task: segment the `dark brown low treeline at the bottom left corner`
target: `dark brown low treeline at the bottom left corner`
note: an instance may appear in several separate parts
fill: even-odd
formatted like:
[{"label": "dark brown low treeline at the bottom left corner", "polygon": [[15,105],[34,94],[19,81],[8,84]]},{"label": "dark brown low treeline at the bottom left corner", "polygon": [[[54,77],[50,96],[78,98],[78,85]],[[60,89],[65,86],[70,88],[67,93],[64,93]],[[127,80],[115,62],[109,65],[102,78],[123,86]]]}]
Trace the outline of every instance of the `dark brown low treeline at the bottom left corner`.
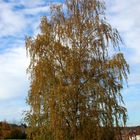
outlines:
[{"label": "dark brown low treeline at the bottom left corner", "polygon": [[0,139],[26,139],[26,125],[0,122]]}]

